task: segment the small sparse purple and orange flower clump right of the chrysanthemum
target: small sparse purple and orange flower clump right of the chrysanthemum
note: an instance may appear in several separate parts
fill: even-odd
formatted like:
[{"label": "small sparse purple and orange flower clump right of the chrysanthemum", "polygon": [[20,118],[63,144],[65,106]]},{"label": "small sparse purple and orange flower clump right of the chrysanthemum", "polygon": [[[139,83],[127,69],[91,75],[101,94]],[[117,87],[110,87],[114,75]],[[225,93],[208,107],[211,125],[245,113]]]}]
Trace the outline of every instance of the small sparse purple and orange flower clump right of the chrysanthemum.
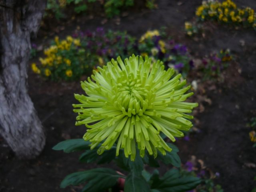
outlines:
[{"label": "small sparse purple and orange flower clump right of the chrysanthemum", "polygon": [[213,53],[209,57],[204,58],[201,66],[204,78],[218,77],[228,67],[232,59],[233,57],[229,49],[220,50],[220,52]]}]

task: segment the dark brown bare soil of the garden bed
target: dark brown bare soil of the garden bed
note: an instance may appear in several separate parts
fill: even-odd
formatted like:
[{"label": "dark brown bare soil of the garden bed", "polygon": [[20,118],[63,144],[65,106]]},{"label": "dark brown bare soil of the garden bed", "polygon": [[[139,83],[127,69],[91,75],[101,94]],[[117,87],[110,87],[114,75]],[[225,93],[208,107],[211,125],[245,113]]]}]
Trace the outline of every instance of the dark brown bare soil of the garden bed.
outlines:
[{"label": "dark brown bare soil of the garden bed", "polygon": [[[180,4],[181,2],[181,4]],[[251,6],[256,9],[255,0],[234,0],[238,5]],[[198,113],[197,128],[201,131],[192,134],[190,141],[178,141],[182,162],[195,155],[202,159],[213,172],[219,172],[216,180],[225,192],[250,192],[254,187],[256,176],[255,148],[252,148],[246,127],[249,118],[256,116],[256,32],[252,29],[234,29],[207,23],[204,37],[184,36],[184,22],[191,20],[201,0],[177,1],[159,0],[158,9],[129,12],[121,17],[120,24],[116,18],[108,20],[103,27],[112,30],[127,30],[140,36],[148,29],[166,26],[168,32],[180,43],[190,49],[193,56],[202,57],[214,50],[230,48],[236,56],[238,65],[230,66],[224,75],[224,82],[216,83],[211,89],[205,87],[204,93],[212,104],[204,104],[204,112]],[[65,30],[59,36],[71,34],[77,26],[81,30],[95,30],[102,26],[104,18],[80,16],[67,22]],[[54,23],[52,24],[54,25]],[[64,24],[59,28],[63,29]],[[44,35],[55,33],[40,30],[38,44]],[[57,30],[58,32],[58,30]],[[50,37],[51,38],[51,37]],[[244,46],[241,45],[244,42]],[[238,69],[241,69],[241,71]],[[75,116],[72,104],[73,93],[81,93],[79,82],[53,83],[45,82],[29,71],[29,94],[38,111],[47,134],[46,146],[42,154],[34,160],[18,160],[4,140],[0,138],[0,191],[2,192],[58,192],[75,191],[76,188],[60,189],[61,180],[69,173],[96,167],[95,164],[80,164],[79,153],[64,154],[52,150],[58,142],[68,138],[81,138],[84,127],[74,126]],[[195,98],[196,98],[195,93]],[[199,93],[198,93],[199,94]],[[21,141],[22,142],[22,141]],[[114,165],[103,165],[105,167]],[[167,168],[161,167],[161,172]]]}]

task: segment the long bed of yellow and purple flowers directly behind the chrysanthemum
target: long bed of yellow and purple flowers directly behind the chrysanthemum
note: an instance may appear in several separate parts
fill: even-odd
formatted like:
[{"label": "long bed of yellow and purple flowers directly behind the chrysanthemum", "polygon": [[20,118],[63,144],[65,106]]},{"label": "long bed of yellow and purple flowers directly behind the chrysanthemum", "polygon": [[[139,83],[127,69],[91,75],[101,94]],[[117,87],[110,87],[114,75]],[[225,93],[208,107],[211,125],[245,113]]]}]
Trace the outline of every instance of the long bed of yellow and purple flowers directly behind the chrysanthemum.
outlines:
[{"label": "long bed of yellow and purple flowers directly behind the chrysanthemum", "polygon": [[158,30],[148,31],[136,39],[126,32],[106,32],[97,28],[95,32],[76,32],[65,40],[56,37],[52,46],[44,50],[46,57],[39,59],[41,65],[34,64],[32,70],[52,80],[75,80],[111,58],[118,55],[125,58],[136,53],[154,61],[161,59],[166,68],[173,67],[186,75],[193,65],[186,46],[163,40],[162,34]]}]

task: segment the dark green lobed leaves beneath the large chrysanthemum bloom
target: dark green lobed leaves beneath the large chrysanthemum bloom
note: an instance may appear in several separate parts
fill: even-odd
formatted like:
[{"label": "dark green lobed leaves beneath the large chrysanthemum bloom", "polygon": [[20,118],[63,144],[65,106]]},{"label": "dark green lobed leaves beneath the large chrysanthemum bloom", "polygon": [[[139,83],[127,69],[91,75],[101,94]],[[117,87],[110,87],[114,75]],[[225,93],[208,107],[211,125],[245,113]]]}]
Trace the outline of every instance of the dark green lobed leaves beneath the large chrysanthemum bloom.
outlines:
[{"label": "dark green lobed leaves beneath the large chrysanthemum bloom", "polygon": [[[169,145],[173,148],[173,154],[168,154],[161,157],[164,162],[172,163],[173,156],[176,156],[178,148],[172,144]],[[80,185],[86,183],[82,192],[101,192],[116,185],[118,178],[125,178],[124,191],[125,192],[183,192],[195,188],[200,179],[193,176],[181,176],[178,170],[172,169],[166,172],[160,178],[158,171],[154,170],[150,174],[144,169],[144,159],[139,156],[137,152],[135,161],[130,161],[129,158],[124,156],[123,150],[120,151],[118,157],[115,157],[116,145],[113,146],[108,152],[98,155],[97,148],[90,150],[88,142],[83,139],[65,140],[53,147],[54,150],[63,150],[66,153],[85,150],[80,156],[81,162],[95,162],[108,163],[116,158],[116,162],[120,168],[128,171],[127,176],[118,174],[116,171],[108,168],[96,168],[87,171],[72,173],[61,182],[60,187],[65,188],[68,185]],[[146,154],[145,154],[146,156]],[[148,156],[152,157],[152,156]],[[99,160],[100,159],[100,160]]]}]

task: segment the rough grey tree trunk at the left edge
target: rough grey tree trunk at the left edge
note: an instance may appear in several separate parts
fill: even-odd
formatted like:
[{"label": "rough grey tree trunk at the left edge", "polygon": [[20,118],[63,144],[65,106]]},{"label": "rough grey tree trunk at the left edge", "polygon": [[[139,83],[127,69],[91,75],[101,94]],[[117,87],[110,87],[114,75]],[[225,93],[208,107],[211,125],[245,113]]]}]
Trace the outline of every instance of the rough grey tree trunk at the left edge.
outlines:
[{"label": "rough grey tree trunk at the left edge", "polygon": [[46,0],[0,0],[0,134],[18,158],[34,158],[45,145],[27,90],[30,35],[45,6]]}]

